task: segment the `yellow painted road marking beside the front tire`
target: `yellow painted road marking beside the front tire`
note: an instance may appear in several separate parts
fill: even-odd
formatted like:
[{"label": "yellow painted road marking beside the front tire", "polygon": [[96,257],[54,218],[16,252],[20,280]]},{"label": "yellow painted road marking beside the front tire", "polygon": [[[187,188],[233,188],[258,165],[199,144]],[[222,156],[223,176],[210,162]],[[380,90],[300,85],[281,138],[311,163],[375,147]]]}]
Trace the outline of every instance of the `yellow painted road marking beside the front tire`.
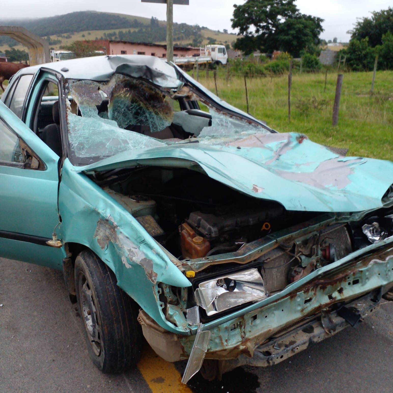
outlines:
[{"label": "yellow painted road marking beside the front tire", "polygon": [[152,393],[192,393],[192,390],[182,384],[182,376],[173,363],[160,358],[146,344],[138,369],[149,385]]}]

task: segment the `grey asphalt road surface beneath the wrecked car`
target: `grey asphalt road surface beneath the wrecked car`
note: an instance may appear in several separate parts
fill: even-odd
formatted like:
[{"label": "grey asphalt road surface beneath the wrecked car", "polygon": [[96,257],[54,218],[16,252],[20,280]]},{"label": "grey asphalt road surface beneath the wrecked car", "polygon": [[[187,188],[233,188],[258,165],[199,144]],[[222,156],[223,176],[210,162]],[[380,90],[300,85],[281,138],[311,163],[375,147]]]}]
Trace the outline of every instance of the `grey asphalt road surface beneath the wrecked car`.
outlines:
[{"label": "grey asphalt road surface beneath the wrecked car", "polygon": [[146,346],[138,368],[104,375],[90,362],[80,316],[62,273],[0,259],[0,392],[393,392],[393,302],[357,329],[270,368],[238,368],[223,380],[196,375],[180,384],[185,362],[169,364]]}]

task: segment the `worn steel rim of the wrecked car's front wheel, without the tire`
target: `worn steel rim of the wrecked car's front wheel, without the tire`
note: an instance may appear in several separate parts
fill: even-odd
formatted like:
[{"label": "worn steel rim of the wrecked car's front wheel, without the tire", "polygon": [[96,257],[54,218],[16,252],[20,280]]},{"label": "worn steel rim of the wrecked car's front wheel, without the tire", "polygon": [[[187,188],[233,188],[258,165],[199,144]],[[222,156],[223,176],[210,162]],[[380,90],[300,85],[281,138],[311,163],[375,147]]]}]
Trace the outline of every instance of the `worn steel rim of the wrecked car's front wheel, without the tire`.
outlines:
[{"label": "worn steel rim of the wrecked car's front wheel, without the tire", "polygon": [[101,354],[101,330],[97,315],[97,299],[90,288],[83,272],[78,275],[79,305],[81,307],[83,325],[86,329],[90,345],[96,356]]}]

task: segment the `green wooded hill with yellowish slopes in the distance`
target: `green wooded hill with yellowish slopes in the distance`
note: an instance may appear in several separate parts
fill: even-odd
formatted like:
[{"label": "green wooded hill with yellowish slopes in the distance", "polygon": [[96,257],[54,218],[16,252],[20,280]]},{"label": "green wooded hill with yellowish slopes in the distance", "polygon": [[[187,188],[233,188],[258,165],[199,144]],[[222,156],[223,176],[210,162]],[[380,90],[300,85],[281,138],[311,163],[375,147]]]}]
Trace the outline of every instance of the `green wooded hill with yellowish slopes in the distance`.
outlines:
[{"label": "green wooded hill with yellowish slopes in the distance", "polygon": [[[59,49],[75,40],[112,39],[141,42],[165,42],[165,21],[133,15],[79,11],[54,17],[37,19],[2,20],[0,25],[22,26],[48,40],[51,48]],[[175,44],[198,46],[208,43],[231,44],[235,34],[213,31],[198,25],[174,23]],[[0,36],[0,50],[11,47],[24,49],[23,46],[6,36]]]}]

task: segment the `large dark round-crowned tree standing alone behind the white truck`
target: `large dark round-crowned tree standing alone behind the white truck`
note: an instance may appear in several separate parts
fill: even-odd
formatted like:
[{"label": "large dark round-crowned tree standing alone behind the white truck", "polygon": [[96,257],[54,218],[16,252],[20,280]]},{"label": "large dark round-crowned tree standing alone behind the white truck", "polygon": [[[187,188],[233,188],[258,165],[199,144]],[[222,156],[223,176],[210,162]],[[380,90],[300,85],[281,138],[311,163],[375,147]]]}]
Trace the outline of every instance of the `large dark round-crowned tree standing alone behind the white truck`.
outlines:
[{"label": "large dark round-crowned tree standing alone behind the white truck", "polygon": [[319,44],[323,19],[304,15],[295,0],[247,0],[234,5],[232,28],[239,29],[236,48],[250,54],[255,50],[288,51],[298,55],[308,46]]}]

